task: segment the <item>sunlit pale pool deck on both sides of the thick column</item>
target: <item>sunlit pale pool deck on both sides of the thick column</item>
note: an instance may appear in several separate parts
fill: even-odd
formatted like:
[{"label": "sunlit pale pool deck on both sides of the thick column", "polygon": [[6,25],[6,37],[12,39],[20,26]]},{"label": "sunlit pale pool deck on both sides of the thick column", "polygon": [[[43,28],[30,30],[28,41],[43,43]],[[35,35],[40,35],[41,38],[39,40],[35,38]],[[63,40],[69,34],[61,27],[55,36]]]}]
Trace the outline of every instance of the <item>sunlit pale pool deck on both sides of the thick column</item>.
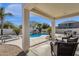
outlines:
[{"label": "sunlit pale pool deck on both sides of the thick column", "polygon": [[[35,46],[43,42],[46,42],[48,40],[47,36],[48,35],[42,35],[40,37],[30,38],[30,46]],[[19,37],[19,39],[17,40],[6,42],[5,44],[13,44],[22,48],[22,37]]]}]

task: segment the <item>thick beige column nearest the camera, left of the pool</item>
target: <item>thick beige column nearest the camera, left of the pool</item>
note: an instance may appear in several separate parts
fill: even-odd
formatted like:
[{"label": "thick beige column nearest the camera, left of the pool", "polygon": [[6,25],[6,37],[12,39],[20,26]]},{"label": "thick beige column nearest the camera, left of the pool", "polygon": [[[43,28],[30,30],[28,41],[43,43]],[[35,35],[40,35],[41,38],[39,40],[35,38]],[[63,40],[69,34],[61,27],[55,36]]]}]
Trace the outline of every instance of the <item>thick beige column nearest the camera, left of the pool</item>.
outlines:
[{"label": "thick beige column nearest the camera, left of the pool", "polygon": [[23,19],[23,40],[22,40],[22,47],[25,52],[28,51],[30,48],[30,38],[29,38],[29,10],[24,9],[23,13],[24,19]]}]

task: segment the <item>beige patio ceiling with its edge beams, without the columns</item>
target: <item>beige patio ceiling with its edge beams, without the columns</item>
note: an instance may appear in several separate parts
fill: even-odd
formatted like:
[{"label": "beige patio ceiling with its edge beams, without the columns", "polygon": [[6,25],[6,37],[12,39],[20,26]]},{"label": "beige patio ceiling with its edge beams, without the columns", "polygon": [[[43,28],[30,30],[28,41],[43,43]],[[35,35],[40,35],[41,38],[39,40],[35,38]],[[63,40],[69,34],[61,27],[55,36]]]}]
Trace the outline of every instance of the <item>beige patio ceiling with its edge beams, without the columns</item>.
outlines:
[{"label": "beige patio ceiling with its edge beams, without the columns", "polygon": [[24,7],[50,19],[79,16],[78,3],[28,3]]}]

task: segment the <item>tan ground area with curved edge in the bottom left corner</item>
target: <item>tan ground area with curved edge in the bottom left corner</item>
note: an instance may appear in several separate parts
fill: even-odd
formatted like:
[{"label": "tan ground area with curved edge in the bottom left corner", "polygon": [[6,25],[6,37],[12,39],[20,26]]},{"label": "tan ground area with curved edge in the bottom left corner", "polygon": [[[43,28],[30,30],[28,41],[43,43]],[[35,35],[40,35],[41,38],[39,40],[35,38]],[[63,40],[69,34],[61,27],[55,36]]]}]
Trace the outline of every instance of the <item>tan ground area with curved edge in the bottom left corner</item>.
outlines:
[{"label": "tan ground area with curved edge in the bottom left corner", "polygon": [[0,45],[0,56],[24,56],[24,51],[16,45],[2,44]]}]

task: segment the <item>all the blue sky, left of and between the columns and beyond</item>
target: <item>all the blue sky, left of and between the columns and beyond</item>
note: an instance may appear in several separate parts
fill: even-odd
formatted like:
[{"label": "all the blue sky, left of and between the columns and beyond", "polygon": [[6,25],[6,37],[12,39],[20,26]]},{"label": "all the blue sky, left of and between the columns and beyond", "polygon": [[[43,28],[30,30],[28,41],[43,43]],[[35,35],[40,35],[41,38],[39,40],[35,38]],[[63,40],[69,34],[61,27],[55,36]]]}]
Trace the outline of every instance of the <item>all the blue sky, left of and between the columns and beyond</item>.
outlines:
[{"label": "all the blue sky, left of and between the columns and beyond", "polygon": [[[4,3],[4,4],[0,4],[0,7],[5,7],[5,13],[12,13],[14,15],[14,16],[5,17],[5,21],[10,21],[10,22],[14,23],[15,25],[22,24],[22,19],[23,19],[22,4]],[[62,22],[68,21],[68,20],[69,21],[79,21],[79,16],[56,20],[56,26],[59,23],[62,23]],[[32,13],[30,13],[30,21],[35,21],[35,22],[39,22],[39,23],[46,23],[48,25],[51,25],[50,20],[48,20],[44,17],[41,17],[41,16],[34,15]]]}]

